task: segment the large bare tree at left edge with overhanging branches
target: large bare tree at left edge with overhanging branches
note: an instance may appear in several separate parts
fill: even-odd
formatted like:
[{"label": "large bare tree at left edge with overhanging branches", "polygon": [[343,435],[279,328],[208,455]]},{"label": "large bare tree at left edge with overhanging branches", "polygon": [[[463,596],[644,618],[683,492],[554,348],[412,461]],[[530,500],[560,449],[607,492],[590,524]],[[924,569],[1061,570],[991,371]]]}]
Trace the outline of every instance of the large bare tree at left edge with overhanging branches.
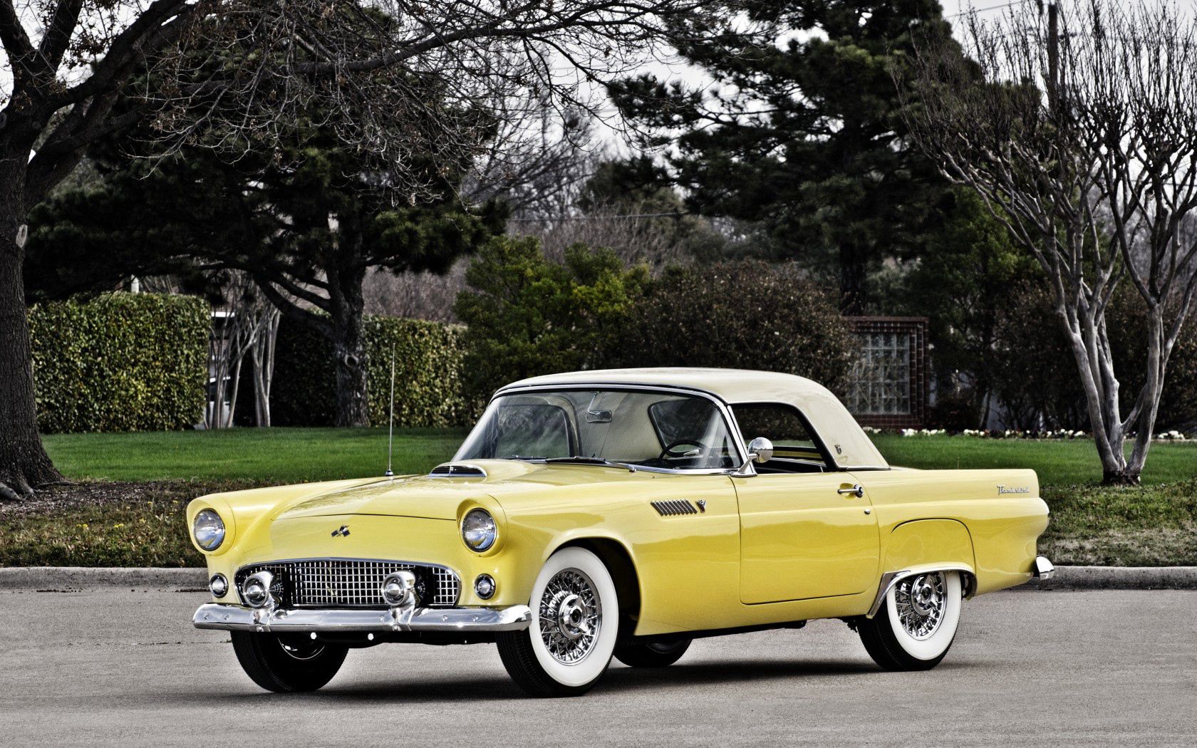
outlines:
[{"label": "large bare tree at left edge with overhanging branches", "polygon": [[[429,182],[413,165],[474,153],[505,116],[488,103],[528,89],[585,107],[589,87],[681,28],[673,23],[679,13],[717,6],[0,0],[0,498],[30,495],[60,478],[36,427],[25,220],[98,138],[152,116],[168,152],[182,142],[269,152],[311,124],[306,112],[316,102],[345,144],[387,166],[397,197],[418,202]],[[117,107],[130,89],[133,104]],[[420,121],[427,126],[412,126]]]}]

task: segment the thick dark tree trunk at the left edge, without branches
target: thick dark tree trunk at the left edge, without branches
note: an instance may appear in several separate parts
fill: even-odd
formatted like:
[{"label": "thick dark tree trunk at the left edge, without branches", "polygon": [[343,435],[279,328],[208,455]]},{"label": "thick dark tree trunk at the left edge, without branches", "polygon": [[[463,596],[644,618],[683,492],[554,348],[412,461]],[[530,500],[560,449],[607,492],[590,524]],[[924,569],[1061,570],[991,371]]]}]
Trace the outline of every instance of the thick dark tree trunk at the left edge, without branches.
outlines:
[{"label": "thick dark tree trunk at the left edge, without branches", "polygon": [[[19,184],[20,181],[17,181]],[[17,232],[24,223],[20,188],[0,189],[0,499],[31,497],[62,480],[37,434],[34,366]]]}]

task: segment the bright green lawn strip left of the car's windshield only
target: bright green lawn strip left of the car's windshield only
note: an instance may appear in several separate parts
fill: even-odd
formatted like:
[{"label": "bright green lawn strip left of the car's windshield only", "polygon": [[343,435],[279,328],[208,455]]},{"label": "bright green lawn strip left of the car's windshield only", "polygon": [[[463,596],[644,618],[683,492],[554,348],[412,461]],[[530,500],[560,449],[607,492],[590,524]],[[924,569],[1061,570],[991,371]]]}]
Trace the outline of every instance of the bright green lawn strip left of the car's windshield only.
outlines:
[{"label": "bright green lawn strip left of the car's windshield only", "polygon": [[[458,428],[395,431],[395,474],[452,457]],[[382,475],[385,428],[223,428],[153,433],[60,433],[43,438],[72,480],[249,480],[298,484]]]}]

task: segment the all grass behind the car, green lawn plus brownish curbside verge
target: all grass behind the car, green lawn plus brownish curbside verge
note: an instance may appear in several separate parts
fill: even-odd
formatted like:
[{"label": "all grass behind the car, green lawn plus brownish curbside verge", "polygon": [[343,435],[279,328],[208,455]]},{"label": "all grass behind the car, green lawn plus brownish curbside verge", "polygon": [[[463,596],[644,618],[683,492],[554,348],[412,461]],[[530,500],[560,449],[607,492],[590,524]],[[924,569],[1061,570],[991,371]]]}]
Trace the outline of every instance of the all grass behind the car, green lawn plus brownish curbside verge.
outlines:
[{"label": "all grass behind the car, green lawn plus brownish curbside verge", "polygon": [[[461,430],[400,430],[395,473],[450,458]],[[1197,443],[1155,444],[1138,487],[1098,485],[1086,440],[874,437],[892,464],[1032,468],[1052,522],[1040,551],[1057,564],[1197,565]],[[74,487],[0,504],[0,565],[202,565],[187,540],[187,501],[213,491],[381,475],[378,428],[235,428],[54,434],[45,445]],[[129,481],[113,484],[108,481]]]}]

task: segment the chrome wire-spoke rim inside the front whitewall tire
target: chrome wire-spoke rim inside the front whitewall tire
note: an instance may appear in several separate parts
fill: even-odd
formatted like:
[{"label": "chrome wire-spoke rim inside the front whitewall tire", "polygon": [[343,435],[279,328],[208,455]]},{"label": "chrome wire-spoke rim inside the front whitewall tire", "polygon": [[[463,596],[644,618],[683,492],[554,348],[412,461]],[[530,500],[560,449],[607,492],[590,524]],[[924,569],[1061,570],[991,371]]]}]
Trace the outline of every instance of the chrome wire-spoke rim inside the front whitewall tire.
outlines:
[{"label": "chrome wire-spoke rim inside the front whitewall tire", "polygon": [[595,584],[578,568],[559,571],[540,597],[540,637],[553,659],[572,665],[595,649],[602,603]]}]

